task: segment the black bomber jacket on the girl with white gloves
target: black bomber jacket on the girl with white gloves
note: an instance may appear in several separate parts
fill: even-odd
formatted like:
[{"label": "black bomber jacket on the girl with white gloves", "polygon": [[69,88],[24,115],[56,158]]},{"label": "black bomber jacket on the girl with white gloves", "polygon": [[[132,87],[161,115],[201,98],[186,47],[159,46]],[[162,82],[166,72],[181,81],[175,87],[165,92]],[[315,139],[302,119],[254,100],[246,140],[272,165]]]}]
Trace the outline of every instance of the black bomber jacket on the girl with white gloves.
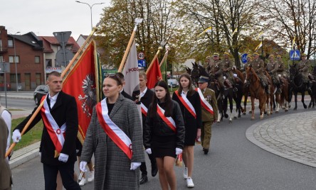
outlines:
[{"label": "black bomber jacket on the girl with white gloves", "polygon": [[[146,125],[145,125],[145,133],[144,133],[144,147],[147,149],[151,147],[151,141],[153,136],[172,136],[175,135],[177,145],[176,147],[179,147],[183,150],[184,147],[184,134],[185,134],[185,129],[184,129],[184,121],[182,117],[182,113],[179,107],[179,104],[176,101],[172,100],[172,118],[174,119],[174,122],[176,123],[177,131],[174,133],[174,130],[172,130],[160,116],[158,113],[155,114],[155,116],[149,116],[147,114],[146,118]],[[165,109],[164,104],[159,104],[163,109]],[[150,108],[152,107],[152,104],[150,104],[148,112]]]}]

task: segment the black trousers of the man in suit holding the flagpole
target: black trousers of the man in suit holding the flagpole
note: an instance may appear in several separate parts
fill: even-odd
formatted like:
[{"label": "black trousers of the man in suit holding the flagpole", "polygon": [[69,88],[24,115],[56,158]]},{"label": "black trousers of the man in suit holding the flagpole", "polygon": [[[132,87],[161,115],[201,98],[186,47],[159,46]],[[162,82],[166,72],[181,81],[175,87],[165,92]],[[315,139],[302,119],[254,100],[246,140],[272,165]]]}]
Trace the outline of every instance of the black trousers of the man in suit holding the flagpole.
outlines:
[{"label": "black trousers of the man in suit holding the flagpole", "polygon": [[43,164],[44,179],[45,179],[45,189],[46,190],[56,190],[56,178],[58,171],[60,172],[61,180],[63,181],[63,186],[65,189],[76,190],[81,189],[77,181],[73,179],[75,162],[69,162],[65,164],[60,164],[58,166],[52,166],[49,164]]}]

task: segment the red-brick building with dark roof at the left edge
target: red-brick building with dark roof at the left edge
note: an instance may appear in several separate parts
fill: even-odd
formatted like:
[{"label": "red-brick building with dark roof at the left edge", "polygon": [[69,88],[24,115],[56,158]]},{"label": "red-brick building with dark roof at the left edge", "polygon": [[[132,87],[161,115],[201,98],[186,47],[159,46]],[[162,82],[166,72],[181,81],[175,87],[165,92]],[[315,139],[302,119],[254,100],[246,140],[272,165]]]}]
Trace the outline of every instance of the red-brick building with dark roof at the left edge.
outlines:
[{"label": "red-brick building with dark roof at the left edge", "polygon": [[10,63],[10,72],[0,77],[0,86],[6,78],[8,90],[29,91],[44,84],[43,43],[33,32],[11,35],[0,26],[0,62]]}]

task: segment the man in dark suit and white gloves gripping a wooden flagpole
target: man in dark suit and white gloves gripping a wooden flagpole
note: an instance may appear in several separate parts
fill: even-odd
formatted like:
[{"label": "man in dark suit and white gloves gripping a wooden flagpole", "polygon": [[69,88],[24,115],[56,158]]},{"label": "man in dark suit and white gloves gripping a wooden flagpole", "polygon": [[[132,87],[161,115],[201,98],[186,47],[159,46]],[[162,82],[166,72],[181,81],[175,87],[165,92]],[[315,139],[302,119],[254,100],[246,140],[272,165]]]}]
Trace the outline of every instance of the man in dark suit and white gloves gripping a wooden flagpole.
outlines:
[{"label": "man in dark suit and white gloves gripping a wooden flagpole", "polygon": [[[65,189],[80,189],[79,184],[73,179],[73,168],[76,161],[75,139],[78,133],[77,104],[73,96],[61,91],[63,78],[60,73],[48,74],[46,84],[49,93],[47,96],[43,96],[43,107],[28,128],[31,130],[38,121],[43,120],[40,155],[43,163],[45,189],[56,189],[58,171]],[[24,125],[35,112],[36,108],[31,115],[16,126],[12,135],[14,143],[19,143]]]}]

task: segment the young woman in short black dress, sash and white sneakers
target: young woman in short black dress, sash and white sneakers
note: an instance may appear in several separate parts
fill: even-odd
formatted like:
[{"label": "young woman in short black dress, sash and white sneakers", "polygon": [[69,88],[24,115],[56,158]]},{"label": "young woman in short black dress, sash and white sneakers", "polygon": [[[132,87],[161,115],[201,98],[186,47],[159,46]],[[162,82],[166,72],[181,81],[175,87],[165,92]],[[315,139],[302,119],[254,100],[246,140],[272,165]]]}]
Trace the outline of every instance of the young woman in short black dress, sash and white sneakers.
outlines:
[{"label": "young woman in short black dress, sash and white sneakers", "polygon": [[192,87],[191,77],[184,73],[179,77],[179,89],[174,91],[172,99],[177,101],[184,118],[184,150],[182,158],[184,161],[184,179],[186,186],[194,187],[192,179],[194,165],[194,145],[196,139],[201,137],[201,101],[197,91]]}]

